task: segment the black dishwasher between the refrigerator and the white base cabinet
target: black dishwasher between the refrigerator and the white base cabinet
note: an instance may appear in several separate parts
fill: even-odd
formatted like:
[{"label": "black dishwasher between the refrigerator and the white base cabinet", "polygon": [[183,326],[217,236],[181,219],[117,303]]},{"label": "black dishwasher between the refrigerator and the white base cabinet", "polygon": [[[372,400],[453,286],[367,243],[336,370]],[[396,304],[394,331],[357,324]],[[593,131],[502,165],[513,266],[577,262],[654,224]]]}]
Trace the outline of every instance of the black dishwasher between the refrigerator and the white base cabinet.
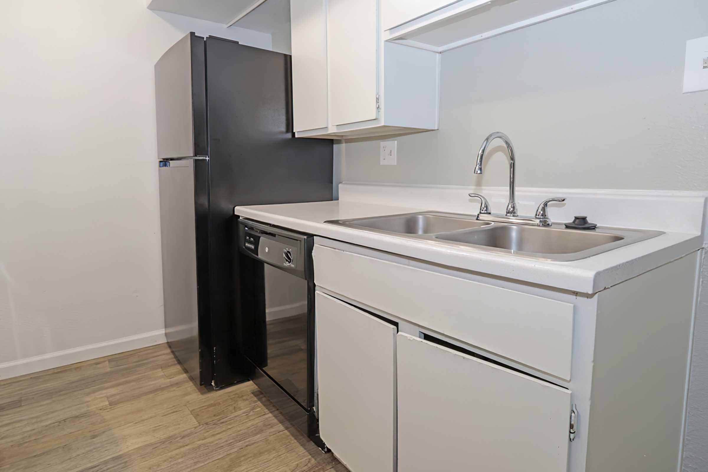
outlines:
[{"label": "black dishwasher between the refrigerator and the white base cabinet", "polygon": [[315,444],[314,237],[239,219],[243,338],[251,380]]}]

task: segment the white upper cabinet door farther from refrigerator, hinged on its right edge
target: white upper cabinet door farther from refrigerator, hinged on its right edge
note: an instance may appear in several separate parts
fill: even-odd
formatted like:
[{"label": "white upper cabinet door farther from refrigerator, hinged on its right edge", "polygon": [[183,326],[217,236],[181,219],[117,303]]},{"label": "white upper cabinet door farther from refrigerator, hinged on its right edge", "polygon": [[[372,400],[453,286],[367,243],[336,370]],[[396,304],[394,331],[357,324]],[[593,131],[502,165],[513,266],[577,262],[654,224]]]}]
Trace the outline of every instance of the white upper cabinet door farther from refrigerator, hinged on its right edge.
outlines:
[{"label": "white upper cabinet door farther from refrigerator, hinged on its right edge", "polygon": [[377,0],[329,0],[331,125],[377,117]]}]

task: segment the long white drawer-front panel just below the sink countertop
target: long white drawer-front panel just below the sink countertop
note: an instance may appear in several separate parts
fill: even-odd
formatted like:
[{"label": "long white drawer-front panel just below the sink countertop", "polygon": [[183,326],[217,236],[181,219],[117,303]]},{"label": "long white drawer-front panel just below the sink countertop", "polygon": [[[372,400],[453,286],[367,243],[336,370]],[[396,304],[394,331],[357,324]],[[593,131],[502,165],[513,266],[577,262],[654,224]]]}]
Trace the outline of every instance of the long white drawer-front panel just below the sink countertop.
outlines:
[{"label": "long white drawer-front panel just below the sink countertop", "polygon": [[570,379],[572,304],[326,246],[313,258],[319,287]]}]

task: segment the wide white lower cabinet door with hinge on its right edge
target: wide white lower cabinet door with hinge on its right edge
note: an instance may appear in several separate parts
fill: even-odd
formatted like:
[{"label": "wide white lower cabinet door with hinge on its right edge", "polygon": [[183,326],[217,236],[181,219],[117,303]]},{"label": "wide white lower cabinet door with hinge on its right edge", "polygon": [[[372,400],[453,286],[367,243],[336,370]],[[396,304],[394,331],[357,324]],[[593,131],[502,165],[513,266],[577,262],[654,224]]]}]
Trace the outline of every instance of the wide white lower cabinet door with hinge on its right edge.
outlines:
[{"label": "wide white lower cabinet door with hinge on its right edge", "polygon": [[401,472],[561,472],[571,392],[400,333]]}]

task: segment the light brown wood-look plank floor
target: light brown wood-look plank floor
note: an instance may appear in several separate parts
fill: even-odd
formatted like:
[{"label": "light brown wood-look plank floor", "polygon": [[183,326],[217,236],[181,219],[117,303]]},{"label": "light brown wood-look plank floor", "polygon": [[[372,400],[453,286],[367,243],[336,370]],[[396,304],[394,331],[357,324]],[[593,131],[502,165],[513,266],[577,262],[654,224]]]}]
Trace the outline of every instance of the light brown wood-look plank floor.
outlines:
[{"label": "light brown wood-look plank floor", "polygon": [[0,472],[346,472],[247,382],[195,387],[167,345],[0,381]]}]

